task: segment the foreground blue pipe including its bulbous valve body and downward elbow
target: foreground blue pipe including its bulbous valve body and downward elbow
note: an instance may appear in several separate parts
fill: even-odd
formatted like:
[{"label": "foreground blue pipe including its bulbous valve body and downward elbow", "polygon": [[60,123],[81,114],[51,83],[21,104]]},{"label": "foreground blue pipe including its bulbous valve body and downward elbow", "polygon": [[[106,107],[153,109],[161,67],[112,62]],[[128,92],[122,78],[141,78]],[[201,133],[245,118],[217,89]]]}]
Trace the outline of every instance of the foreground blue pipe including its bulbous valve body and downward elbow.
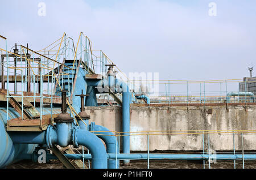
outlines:
[{"label": "foreground blue pipe including its bulbous valve body and downward elbow", "polygon": [[[73,144],[76,145],[84,145],[92,153],[92,168],[108,168],[106,149],[101,140],[91,132],[72,128],[71,125],[72,123],[57,123],[56,128],[49,126],[47,132],[13,131],[9,134],[13,143],[19,144],[47,144],[49,147],[53,144],[58,144],[61,147],[67,147],[68,144],[72,144],[73,142]],[[1,135],[2,132],[6,131],[1,131]],[[9,150],[9,148],[10,147],[7,147],[7,150]],[[6,163],[3,163],[3,166],[4,165],[6,165]]]}]

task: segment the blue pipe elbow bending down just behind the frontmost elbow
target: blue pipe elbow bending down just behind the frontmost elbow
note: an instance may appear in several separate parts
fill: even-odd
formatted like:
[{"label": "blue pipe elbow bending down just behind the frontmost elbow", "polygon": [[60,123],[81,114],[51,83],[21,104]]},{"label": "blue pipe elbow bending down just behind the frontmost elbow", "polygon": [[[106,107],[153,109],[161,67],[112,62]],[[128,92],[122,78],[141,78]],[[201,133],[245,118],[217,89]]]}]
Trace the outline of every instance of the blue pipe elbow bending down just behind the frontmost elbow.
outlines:
[{"label": "blue pipe elbow bending down just behind the frontmost elbow", "polygon": [[[106,127],[95,125],[95,123],[90,124],[90,131],[105,131],[105,132],[93,132],[98,136],[98,138],[102,139],[106,144],[106,152],[115,154],[119,153],[119,145],[116,142],[115,136],[113,132]],[[112,136],[113,135],[113,136]],[[119,161],[117,161],[117,166],[115,166],[115,160],[108,160],[108,169],[119,169]]]}]

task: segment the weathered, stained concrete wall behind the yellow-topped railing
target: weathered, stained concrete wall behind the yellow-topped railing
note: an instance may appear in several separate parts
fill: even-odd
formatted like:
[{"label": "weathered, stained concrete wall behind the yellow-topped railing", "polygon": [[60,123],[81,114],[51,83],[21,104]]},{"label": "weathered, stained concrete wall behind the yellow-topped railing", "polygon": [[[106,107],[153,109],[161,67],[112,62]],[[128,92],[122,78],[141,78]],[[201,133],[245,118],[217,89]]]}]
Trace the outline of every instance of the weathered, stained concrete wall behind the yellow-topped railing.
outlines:
[{"label": "weathered, stained concrete wall behind the yellow-topped railing", "polygon": [[[168,107],[131,106],[130,131],[175,131],[181,130],[256,130],[256,106],[172,106]],[[209,110],[212,109],[212,110]],[[122,109],[118,107],[86,107],[91,122],[121,131]],[[154,132],[167,133],[167,132]],[[182,132],[176,132],[182,133]],[[139,134],[139,133],[135,133]],[[210,134],[210,148],[233,150],[233,134]],[[234,134],[236,149],[242,149],[241,134]],[[146,151],[147,136],[130,136],[131,151]],[[205,149],[208,135],[204,135]],[[256,149],[256,134],[243,134],[244,149]],[[202,134],[150,135],[150,151],[154,150],[202,150]]]}]

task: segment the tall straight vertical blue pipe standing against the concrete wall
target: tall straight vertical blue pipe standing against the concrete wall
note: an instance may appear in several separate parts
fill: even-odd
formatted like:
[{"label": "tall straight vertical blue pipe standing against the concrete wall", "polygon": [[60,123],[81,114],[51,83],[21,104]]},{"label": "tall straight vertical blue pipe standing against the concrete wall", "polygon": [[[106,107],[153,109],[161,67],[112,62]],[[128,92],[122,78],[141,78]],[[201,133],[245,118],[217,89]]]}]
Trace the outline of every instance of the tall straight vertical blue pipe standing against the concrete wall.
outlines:
[{"label": "tall straight vertical blue pipe standing against the concrete wall", "polygon": [[[122,131],[123,133],[123,153],[130,153],[130,92],[122,93]],[[123,160],[123,164],[129,164],[129,160]]]}]

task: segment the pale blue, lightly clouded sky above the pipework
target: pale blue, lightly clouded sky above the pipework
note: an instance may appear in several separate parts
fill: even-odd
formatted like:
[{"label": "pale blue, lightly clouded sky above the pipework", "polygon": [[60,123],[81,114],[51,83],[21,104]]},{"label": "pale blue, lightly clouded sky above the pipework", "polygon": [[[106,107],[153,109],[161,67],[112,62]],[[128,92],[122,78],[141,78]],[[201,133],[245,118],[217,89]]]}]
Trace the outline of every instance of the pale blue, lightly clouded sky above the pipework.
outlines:
[{"label": "pale blue, lightly clouded sky above the pipework", "polygon": [[[39,2],[46,16],[38,15]],[[217,16],[209,16],[210,2]],[[0,35],[9,47],[28,42],[39,50],[64,32],[76,42],[82,31],[126,73],[237,79],[256,65],[255,8],[253,0],[10,0],[0,2]]]}]

